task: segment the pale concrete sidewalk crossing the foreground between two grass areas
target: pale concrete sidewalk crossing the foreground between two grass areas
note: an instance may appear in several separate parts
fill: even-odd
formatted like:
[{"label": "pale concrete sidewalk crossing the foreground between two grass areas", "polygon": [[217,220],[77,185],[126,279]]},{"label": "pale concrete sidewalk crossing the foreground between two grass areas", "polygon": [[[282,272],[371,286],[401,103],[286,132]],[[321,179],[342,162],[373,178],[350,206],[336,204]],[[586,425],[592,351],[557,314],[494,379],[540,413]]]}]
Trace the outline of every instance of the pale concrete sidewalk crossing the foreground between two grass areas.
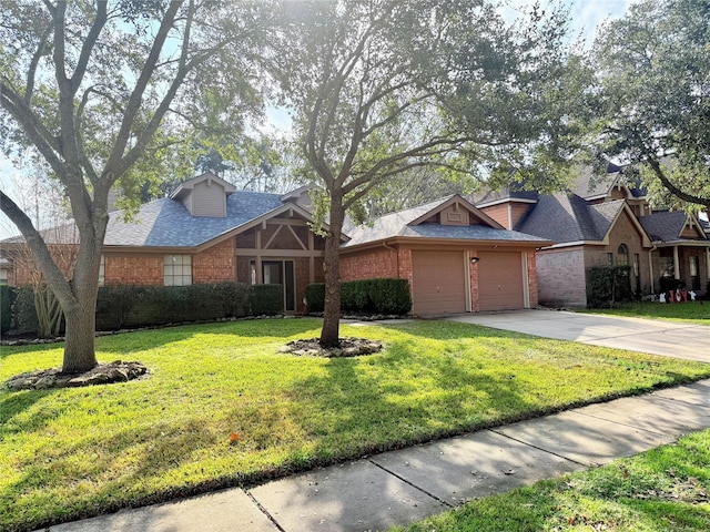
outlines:
[{"label": "pale concrete sidewalk crossing the foreground between two grass areas", "polygon": [[51,526],[51,532],[384,530],[710,428],[710,379],[425,446]]}]

